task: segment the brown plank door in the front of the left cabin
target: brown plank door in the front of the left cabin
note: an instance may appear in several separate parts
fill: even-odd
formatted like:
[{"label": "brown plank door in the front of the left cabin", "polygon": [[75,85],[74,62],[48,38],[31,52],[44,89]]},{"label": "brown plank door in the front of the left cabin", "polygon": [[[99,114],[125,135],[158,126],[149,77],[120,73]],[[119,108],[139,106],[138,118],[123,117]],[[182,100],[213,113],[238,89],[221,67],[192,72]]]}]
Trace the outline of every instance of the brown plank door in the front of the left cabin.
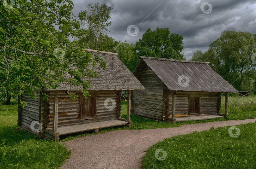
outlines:
[{"label": "brown plank door in the front of the left cabin", "polygon": [[96,99],[95,97],[79,96],[79,118],[94,117],[96,115]]}]

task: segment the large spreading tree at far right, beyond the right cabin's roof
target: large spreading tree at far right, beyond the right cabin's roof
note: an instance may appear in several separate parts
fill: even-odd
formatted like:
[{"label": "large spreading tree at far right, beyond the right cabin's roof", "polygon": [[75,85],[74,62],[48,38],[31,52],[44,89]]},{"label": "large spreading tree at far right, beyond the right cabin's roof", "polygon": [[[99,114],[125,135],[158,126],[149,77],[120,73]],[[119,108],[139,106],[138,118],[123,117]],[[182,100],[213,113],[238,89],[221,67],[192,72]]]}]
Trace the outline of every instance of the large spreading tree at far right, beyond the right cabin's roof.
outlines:
[{"label": "large spreading tree at far right, beyond the right cabin's roof", "polygon": [[250,32],[223,31],[203,54],[194,53],[193,61],[208,61],[210,66],[237,90],[253,90],[256,36]]}]

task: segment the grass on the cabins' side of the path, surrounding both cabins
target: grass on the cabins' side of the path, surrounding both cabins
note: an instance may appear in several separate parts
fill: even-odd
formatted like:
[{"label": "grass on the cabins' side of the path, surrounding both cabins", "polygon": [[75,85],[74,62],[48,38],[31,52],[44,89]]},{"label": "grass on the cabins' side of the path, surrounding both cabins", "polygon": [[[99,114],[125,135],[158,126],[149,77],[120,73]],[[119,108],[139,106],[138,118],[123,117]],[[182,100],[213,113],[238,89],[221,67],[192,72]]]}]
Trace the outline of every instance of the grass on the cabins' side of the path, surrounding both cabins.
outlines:
[{"label": "grass on the cabins' side of the path, surrounding both cabins", "polygon": [[[222,97],[222,112],[224,112]],[[127,103],[122,101],[121,117],[126,118]],[[144,119],[131,115],[132,127],[112,127],[100,130],[101,133],[125,129],[155,129],[176,127],[183,124],[204,123],[221,120],[239,120],[256,117],[256,96],[229,97],[229,117],[200,121],[186,121],[171,124],[152,119]],[[57,168],[70,156],[68,151],[59,142],[49,142],[35,138],[26,131],[16,130],[17,101],[12,100],[11,105],[0,105],[0,168]],[[61,142],[77,137],[96,133],[78,133],[62,137]]]}]

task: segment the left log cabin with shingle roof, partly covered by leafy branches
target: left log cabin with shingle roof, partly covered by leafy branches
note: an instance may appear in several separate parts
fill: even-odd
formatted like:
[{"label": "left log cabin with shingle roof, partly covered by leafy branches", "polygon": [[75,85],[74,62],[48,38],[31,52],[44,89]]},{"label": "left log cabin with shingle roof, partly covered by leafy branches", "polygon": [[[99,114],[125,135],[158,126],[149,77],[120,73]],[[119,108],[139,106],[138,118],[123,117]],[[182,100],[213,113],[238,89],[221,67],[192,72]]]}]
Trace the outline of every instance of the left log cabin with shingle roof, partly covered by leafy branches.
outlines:
[{"label": "left log cabin with shingle roof, partly covered by leafy branches", "polygon": [[[83,131],[95,131],[113,126],[130,126],[131,91],[144,90],[144,86],[118,58],[118,54],[86,50],[98,55],[106,62],[107,68],[91,67],[100,76],[91,79],[87,89],[90,96],[86,99],[81,93],[81,86],[61,83],[57,89],[44,89],[37,93],[38,98],[22,95],[20,102],[27,105],[18,107],[18,125],[33,133],[36,137],[47,140],[59,140],[59,136]],[[70,78],[69,75],[65,78]],[[121,91],[128,91],[127,119],[120,117]],[[48,100],[43,99],[43,94]],[[78,97],[70,100],[70,94]]]}]

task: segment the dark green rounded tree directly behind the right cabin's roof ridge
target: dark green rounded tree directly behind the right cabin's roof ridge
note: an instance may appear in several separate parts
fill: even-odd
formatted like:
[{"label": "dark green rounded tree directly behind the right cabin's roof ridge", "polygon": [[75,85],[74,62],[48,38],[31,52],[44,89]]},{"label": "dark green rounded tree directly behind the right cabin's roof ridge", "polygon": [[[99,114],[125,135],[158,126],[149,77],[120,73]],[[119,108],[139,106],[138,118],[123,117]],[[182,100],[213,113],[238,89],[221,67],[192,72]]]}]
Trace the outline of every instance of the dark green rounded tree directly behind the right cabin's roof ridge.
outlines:
[{"label": "dark green rounded tree directly behind the right cabin's roof ridge", "polygon": [[169,28],[157,27],[155,31],[147,29],[142,38],[136,42],[138,55],[185,60],[181,51],[184,49],[183,37],[171,33]]}]

